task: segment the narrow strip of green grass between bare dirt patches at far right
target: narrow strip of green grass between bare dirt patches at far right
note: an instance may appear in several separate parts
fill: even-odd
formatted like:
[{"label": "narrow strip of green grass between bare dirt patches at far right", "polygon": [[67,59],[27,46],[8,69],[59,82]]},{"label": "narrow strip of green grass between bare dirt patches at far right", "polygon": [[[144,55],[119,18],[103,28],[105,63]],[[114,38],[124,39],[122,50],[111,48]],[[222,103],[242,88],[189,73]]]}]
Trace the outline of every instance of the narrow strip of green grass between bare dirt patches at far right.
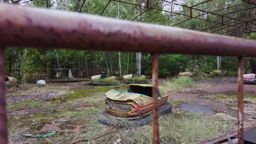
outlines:
[{"label": "narrow strip of green grass between bare dirt patches at far right", "polygon": [[[220,101],[236,101],[237,93],[233,94],[217,94],[217,95],[206,95],[207,98],[219,99]],[[256,103],[256,95],[244,93],[243,94],[244,101]]]}]

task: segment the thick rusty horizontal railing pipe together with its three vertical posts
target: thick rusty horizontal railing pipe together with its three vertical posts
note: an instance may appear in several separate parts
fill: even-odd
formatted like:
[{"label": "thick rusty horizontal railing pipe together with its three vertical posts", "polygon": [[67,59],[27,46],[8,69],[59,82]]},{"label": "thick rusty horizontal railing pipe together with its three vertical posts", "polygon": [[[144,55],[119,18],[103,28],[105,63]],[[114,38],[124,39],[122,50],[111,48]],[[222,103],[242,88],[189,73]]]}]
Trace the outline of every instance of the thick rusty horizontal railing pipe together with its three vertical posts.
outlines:
[{"label": "thick rusty horizontal railing pipe together with its three vertical posts", "polygon": [[152,53],[153,135],[159,143],[158,54],[239,57],[239,143],[243,143],[243,57],[256,56],[256,41],[89,14],[0,4],[0,143],[7,143],[3,79],[6,46]]}]

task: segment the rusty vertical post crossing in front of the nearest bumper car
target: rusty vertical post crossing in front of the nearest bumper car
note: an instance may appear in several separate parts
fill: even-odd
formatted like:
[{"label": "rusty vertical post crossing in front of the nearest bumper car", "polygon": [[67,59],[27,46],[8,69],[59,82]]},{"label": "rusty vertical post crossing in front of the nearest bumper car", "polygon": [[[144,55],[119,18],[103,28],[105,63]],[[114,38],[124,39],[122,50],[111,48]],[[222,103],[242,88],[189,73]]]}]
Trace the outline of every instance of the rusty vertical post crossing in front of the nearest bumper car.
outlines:
[{"label": "rusty vertical post crossing in front of the nearest bumper car", "polygon": [[152,55],[152,82],[153,82],[153,144],[159,144],[158,123],[158,54]]}]

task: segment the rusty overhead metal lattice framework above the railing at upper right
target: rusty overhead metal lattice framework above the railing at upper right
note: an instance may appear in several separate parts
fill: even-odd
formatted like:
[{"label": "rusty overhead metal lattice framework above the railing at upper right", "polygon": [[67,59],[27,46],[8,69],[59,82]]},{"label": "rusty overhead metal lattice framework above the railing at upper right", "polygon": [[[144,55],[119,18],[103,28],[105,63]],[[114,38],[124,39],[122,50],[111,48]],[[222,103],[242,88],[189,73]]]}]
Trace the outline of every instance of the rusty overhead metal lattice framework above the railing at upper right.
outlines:
[{"label": "rusty overhead metal lattice framework above the railing at upper right", "polygon": [[[85,1],[85,0],[84,0]],[[213,26],[209,26],[205,29],[200,29],[200,31],[217,33],[220,30],[232,28],[227,31],[224,31],[220,34],[227,36],[238,36],[241,34],[249,34],[251,32],[256,32],[256,13],[249,13],[256,8],[256,0],[231,0],[228,6],[224,5],[221,9],[216,9],[213,11],[201,10],[199,7],[203,4],[207,4],[207,7],[213,5],[217,0],[202,0],[202,2],[197,3],[193,6],[187,6],[185,4],[179,3],[180,0],[144,0],[144,4],[138,4],[134,2],[135,0],[109,0],[105,9],[102,11],[101,15],[104,15],[104,11],[107,10],[109,3],[125,3],[126,5],[133,5],[136,7],[144,7],[145,10],[135,16],[132,20],[136,20],[139,16],[147,13],[149,10],[155,10],[154,15],[157,11],[162,11],[165,13],[172,14],[165,21],[170,20],[171,17],[180,15],[184,17],[184,20],[174,23],[169,26],[179,26],[180,24],[190,21],[192,19],[197,19],[202,21],[202,23],[211,23]],[[186,0],[189,1],[189,0]],[[241,4],[234,4],[235,1],[241,1]],[[151,5],[150,5],[150,2]],[[158,5],[161,5],[161,8],[156,8]],[[84,3],[82,4],[82,7]],[[242,8],[245,7],[245,8]],[[165,9],[168,7],[167,9]],[[182,7],[181,11],[174,10],[174,7]],[[234,10],[236,9],[236,10]],[[230,10],[229,12],[226,12]],[[129,11],[130,12],[130,11]],[[246,13],[242,16],[240,13]],[[249,14],[248,14],[249,13]],[[210,16],[213,16],[210,18]],[[138,20],[138,19],[137,19]],[[162,23],[164,23],[162,22]],[[256,39],[256,38],[252,38]]]}]

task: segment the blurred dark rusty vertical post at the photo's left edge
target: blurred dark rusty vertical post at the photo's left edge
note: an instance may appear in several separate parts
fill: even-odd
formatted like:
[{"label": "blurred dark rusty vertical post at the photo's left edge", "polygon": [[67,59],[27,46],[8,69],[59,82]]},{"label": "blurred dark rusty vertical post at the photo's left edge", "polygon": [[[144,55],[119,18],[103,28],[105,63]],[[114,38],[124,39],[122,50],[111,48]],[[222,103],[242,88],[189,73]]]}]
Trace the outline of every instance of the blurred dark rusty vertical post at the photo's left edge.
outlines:
[{"label": "blurred dark rusty vertical post at the photo's left edge", "polygon": [[4,47],[0,46],[0,144],[7,144],[7,109],[4,86]]}]

